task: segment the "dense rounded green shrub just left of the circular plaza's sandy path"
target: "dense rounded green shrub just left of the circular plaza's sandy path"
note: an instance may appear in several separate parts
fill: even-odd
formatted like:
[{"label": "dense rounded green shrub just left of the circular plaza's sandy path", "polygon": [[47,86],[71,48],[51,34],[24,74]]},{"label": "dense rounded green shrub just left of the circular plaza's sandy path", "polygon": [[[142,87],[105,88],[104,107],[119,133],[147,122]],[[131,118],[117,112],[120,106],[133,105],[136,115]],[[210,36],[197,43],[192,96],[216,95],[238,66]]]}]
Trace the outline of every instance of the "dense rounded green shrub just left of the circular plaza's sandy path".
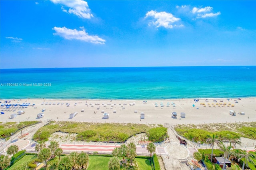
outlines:
[{"label": "dense rounded green shrub just left of the circular plaza's sandy path", "polygon": [[148,130],[148,140],[152,142],[162,142],[167,136],[167,128],[165,127],[156,127]]}]

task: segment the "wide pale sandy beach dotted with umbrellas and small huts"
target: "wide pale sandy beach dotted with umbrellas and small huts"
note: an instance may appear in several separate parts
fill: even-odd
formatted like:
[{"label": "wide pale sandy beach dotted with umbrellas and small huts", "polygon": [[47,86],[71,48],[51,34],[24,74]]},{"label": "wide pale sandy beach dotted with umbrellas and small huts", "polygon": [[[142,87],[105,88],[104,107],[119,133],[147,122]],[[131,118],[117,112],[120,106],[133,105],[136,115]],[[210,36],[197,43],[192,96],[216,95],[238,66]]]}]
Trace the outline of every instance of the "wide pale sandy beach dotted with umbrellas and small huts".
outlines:
[{"label": "wide pale sandy beach dotted with umbrellas and small huts", "polygon": [[[207,100],[199,99],[197,102],[193,99],[149,100],[146,103],[141,100],[1,100],[1,104],[4,101],[10,101],[7,104],[12,104],[12,107],[7,109],[6,106],[2,106],[0,108],[1,112],[4,112],[0,116],[0,121],[46,121],[52,119],[53,121],[147,123],[162,125],[165,123],[175,125],[181,123],[199,124],[256,121],[255,97],[230,99],[230,101],[227,99]],[[15,107],[15,104],[22,105],[23,103],[25,105],[26,103],[27,105],[28,103],[30,104],[26,108]],[[67,103],[69,106],[66,105]],[[161,106],[161,103],[163,106]],[[203,103],[205,106],[202,105]],[[44,112],[42,111],[43,109],[45,109]],[[25,111],[25,113],[11,119],[11,114],[21,110]],[[82,112],[82,110],[84,111]],[[230,110],[235,111],[236,115],[230,115]],[[70,114],[75,112],[78,114],[70,119]],[[140,113],[142,112],[145,114],[144,119],[140,119]],[[177,113],[176,119],[172,118],[172,112]],[[180,117],[181,112],[186,113],[185,118]],[[240,115],[238,114],[239,112],[244,112],[245,115]],[[37,115],[39,113],[44,113],[44,117],[38,119]],[[109,113],[108,119],[103,119],[104,113]]]}]

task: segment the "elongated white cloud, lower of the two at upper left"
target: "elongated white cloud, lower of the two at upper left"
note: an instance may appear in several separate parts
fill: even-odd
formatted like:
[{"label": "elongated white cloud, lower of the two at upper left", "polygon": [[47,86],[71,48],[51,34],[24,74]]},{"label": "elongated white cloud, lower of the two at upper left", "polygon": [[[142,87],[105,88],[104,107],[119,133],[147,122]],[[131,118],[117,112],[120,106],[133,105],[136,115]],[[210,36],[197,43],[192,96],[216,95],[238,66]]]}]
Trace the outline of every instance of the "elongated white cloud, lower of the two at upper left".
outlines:
[{"label": "elongated white cloud, lower of the two at upper left", "polygon": [[81,40],[84,42],[90,43],[99,43],[105,44],[106,40],[99,38],[98,36],[90,36],[87,32],[85,32],[84,27],[80,27],[81,30],[71,30],[66,27],[54,27],[53,30],[56,31],[54,35],[61,36],[67,40]]}]

